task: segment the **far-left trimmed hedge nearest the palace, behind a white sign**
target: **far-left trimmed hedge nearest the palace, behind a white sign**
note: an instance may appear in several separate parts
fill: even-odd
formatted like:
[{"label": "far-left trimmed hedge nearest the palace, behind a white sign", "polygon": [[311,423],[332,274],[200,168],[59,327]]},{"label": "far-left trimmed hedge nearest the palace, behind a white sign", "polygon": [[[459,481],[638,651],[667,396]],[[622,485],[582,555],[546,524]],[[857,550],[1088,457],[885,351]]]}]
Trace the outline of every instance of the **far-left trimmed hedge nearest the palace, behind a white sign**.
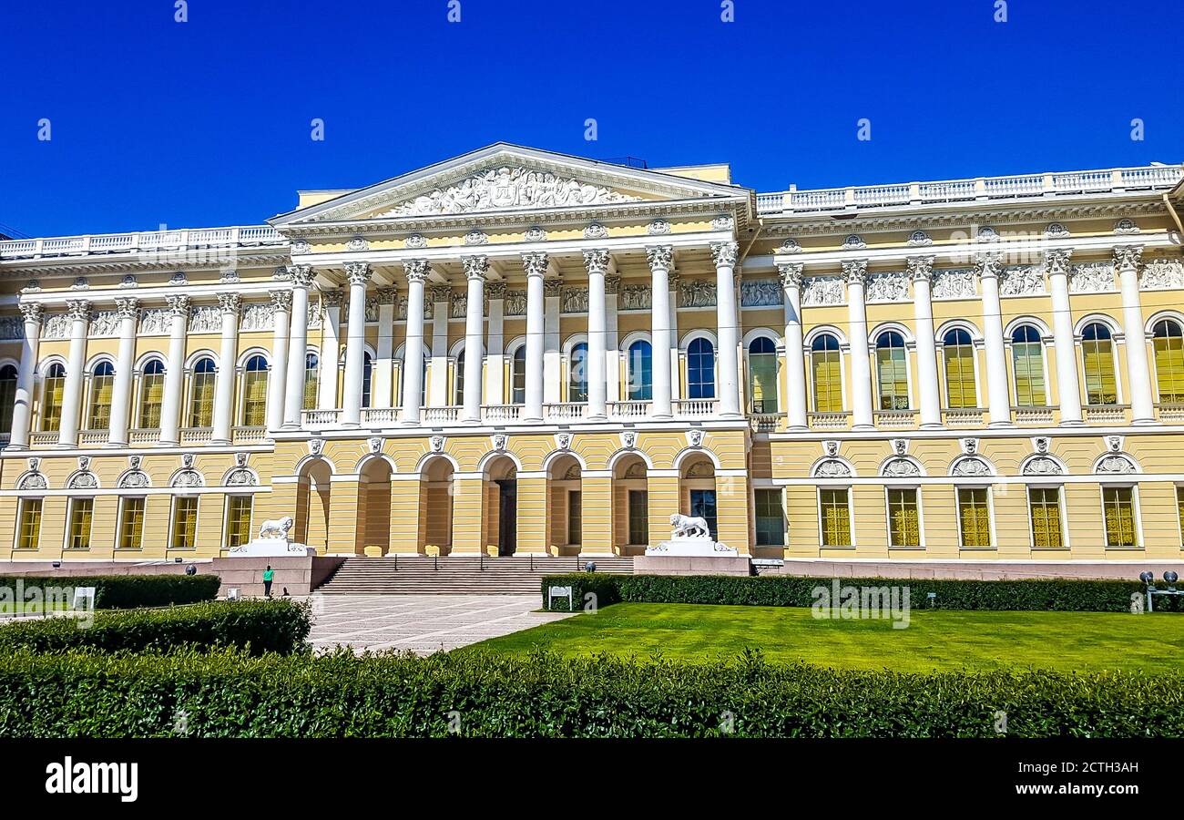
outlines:
[{"label": "far-left trimmed hedge nearest the palace, behind a white sign", "polygon": [[221,579],[217,575],[0,576],[0,588],[7,587],[8,595],[12,597],[15,597],[18,582],[25,589],[30,587],[54,587],[58,589],[94,587],[96,609],[167,607],[178,603],[213,601],[218,597],[218,588],[221,585]]}]

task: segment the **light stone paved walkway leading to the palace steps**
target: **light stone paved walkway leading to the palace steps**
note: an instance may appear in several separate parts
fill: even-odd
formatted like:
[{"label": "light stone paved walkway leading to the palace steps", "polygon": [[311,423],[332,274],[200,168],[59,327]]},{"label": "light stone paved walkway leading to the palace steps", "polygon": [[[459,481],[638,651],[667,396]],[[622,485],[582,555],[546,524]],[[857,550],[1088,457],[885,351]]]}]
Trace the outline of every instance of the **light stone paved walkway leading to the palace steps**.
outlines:
[{"label": "light stone paved walkway leading to the palace steps", "polygon": [[313,595],[313,634],[321,649],[455,649],[551,623],[567,613],[536,613],[538,595]]}]

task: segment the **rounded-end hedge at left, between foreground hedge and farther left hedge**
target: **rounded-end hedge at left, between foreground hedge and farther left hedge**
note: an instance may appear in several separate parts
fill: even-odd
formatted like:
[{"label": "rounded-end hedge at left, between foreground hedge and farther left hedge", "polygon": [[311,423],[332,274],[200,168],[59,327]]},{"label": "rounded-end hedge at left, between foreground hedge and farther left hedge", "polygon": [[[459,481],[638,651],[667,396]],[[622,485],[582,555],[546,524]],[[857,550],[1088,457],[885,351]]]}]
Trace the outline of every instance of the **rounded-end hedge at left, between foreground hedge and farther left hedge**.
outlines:
[{"label": "rounded-end hedge at left, between foreground hedge and farther left hedge", "polygon": [[251,654],[291,654],[304,648],[308,604],[291,601],[211,601],[169,609],[97,613],[94,623],[71,616],[17,621],[0,627],[0,653],[168,651],[238,647]]}]

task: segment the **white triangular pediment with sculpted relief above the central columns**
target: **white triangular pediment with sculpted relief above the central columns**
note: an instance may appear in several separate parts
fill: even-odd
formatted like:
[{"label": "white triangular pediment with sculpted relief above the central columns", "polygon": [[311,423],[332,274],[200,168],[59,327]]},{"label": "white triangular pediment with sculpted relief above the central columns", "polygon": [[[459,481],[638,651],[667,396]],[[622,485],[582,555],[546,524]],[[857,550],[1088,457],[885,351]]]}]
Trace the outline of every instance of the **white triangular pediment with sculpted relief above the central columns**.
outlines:
[{"label": "white triangular pediment with sculpted relief above the central columns", "polygon": [[723,198],[742,188],[498,143],[272,219],[275,225]]}]

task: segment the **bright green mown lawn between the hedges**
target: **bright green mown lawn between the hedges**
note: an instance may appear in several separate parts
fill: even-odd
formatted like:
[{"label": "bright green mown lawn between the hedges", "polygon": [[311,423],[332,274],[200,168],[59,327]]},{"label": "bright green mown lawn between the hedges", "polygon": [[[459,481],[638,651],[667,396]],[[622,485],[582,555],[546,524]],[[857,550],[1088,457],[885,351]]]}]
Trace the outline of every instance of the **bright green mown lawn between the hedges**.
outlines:
[{"label": "bright green mown lawn between the hedges", "polygon": [[914,610],[907,628],[894,629],[890,621],[818,620],[807,608],[618,603],[471,648],[526,653],[540,647],[641,660],[714,660],[754,647],[770,661],[897,672],[1182,672],[1184,615]]}]

